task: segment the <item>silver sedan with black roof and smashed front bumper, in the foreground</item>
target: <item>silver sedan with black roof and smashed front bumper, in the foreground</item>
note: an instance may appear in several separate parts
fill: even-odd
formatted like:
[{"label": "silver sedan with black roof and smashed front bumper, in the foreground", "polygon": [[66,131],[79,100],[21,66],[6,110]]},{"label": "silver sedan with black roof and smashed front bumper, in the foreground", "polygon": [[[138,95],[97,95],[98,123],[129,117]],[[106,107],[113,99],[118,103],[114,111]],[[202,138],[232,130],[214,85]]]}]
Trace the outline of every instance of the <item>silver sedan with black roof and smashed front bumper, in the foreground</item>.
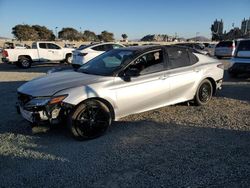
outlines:
[{"label": "silver sedan with black roof and smashed front bumper, in the foreground", "polygon": [[95,138],[130,114],[185,101],[206,105],[221,87],[223,73],[218,60],[182,47],[119,48],[78,70],[23,84],[17,109],[32,123],[68,119],[76,139]]}]

